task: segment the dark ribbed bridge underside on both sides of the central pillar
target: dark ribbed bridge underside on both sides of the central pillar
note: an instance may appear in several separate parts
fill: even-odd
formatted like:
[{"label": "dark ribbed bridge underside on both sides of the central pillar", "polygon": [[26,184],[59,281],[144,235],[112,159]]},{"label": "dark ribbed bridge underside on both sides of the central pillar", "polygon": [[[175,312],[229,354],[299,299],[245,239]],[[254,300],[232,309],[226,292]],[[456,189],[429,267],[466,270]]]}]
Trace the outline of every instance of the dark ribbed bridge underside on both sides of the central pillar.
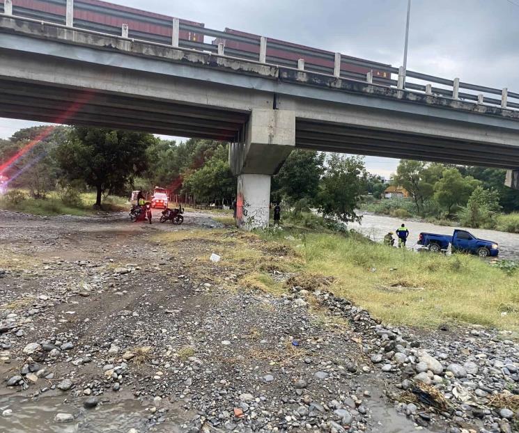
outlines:
[{"label": "dark ribbed bridge underside on both sides of the central pillar", "polygon": [[[99,90],[0,79],[0,117],[95,125],[220,141],[239,141],[249,113],[150,100]],[[516,146],[440,139],[344,123],[295,121],[295,147],[433,162],[519,167]]]}]

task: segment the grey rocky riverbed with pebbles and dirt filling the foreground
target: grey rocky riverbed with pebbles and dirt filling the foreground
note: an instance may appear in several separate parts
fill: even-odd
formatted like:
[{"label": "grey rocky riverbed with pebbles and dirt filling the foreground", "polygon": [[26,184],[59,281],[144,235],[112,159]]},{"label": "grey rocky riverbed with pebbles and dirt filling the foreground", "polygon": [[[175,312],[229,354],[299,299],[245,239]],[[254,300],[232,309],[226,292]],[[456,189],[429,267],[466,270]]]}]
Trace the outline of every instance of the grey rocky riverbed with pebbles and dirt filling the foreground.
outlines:
[{"label": "grey rocky riverbed with pebbles and dirt filling the foreground", "polygon": [[304,272],[245,287],[218,227],[0,212],[0,432],[518,431],[515,335],[387,326]]}]

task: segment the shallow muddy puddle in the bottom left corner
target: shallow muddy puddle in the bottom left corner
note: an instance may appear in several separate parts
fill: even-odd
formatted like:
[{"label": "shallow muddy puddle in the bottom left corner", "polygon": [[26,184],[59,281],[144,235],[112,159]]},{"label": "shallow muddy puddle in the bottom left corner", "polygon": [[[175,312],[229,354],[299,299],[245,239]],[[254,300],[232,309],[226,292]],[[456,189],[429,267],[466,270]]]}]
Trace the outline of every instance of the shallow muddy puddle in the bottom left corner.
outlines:
[{"label": "shallow muddy puddle in the bottom left corner", "polygon": [[[0,433],[126,433],[131,428],[137,432],[179,433],[180,422],[168,420],[164,425],[148,423],[149,413],[137,400],[121,400],[100,404],[95,409],[84,409],[84,399],[63,397],[0,397]],[[1,413],[12,409],[4,418]],[[56,423],[56,414],[72,414],[72,423]]]}]

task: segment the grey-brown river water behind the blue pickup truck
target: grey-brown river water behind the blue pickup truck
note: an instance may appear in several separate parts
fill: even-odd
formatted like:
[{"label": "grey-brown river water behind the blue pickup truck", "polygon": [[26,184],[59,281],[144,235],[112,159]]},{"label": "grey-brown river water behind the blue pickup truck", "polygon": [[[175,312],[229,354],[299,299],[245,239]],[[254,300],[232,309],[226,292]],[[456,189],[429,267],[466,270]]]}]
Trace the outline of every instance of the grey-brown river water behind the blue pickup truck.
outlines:
[{"label": "grey-brown river water behind the blue pickup truck", "polygon": [[361,223],[350,223],[348,227],[353,228],[370,239],[382,242],[382,239],[388,232],[394,232],[402,223],[405,223],[405,226],[410,232],[408,248],[416,247],[418,236],[421,232],[452,235],[454,229],[462,228],[480,239],[486,239],[499,244],[499,258],[519,260],[519,234],[516,233],[497,232],[495,230],[483,230],[479,228],[437,226],[431,223],[402,220],[393,218],[392,216],[373,214],[363,214]]}]

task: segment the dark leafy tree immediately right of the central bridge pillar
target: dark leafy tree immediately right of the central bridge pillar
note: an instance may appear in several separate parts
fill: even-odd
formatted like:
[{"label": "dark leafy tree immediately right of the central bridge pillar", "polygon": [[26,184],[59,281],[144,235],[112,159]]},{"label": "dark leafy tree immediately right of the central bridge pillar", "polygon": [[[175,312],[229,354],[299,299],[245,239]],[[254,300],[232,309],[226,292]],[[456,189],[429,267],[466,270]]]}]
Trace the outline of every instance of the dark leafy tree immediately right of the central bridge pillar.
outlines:
[{"label": "dark leafy tree immediately right of the central bridge pillar", "polygon": [[279,173],[272,178],[272,196],[283,198],[290,206],[300,200],[312,205],[316,202],[324,162],[324,153],[293,150]]}]

